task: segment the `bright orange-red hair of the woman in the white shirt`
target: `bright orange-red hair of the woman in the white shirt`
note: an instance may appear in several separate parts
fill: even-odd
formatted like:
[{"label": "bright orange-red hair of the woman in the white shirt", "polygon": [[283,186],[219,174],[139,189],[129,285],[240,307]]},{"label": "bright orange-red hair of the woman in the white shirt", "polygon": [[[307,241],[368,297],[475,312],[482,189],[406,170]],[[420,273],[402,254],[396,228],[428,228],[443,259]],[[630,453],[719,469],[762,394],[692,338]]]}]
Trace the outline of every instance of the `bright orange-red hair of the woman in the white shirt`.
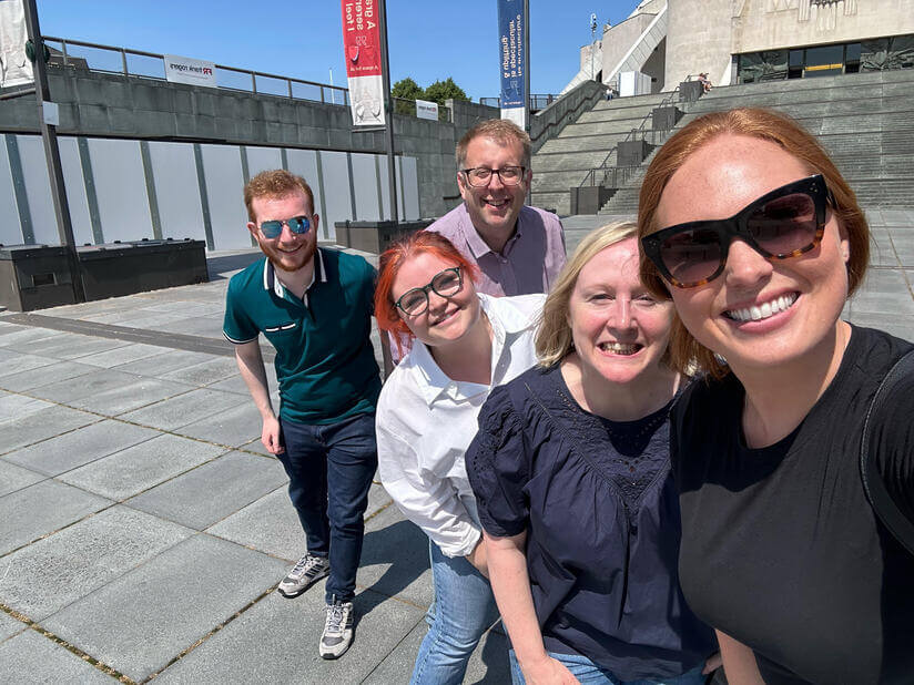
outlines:
[{"label": "bright orange-red hair of the woman in the white shirt", "polygon": [[[397,313],[393,288],[397,274],[416,255],[430,254],[445,262],[453,262],[460,267],[464,279],[476,280],[479,272],[476,264],[467,259],[454,243],[443,235],[429,231],[418,231],[394,243],[378,258],[377,286],[375,287],[375,317],[378,328],[394,334],[395,338],[407,336],[413,331]],[[399,346],[399,340],[397,340]],[[403,352],[404,350],[400,350]]]}]

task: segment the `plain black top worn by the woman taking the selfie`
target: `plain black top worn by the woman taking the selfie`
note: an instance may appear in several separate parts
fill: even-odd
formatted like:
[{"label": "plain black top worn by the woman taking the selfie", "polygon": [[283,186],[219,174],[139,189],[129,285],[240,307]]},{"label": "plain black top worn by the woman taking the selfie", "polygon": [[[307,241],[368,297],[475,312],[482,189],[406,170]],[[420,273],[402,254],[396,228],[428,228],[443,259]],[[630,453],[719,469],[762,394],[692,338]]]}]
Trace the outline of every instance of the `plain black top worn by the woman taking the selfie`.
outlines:
[{"label": "plain black top worn by the woman taking the selfie", "polygon": [[[860,473],[866,409],[910,347],[854,327],[825,392],[766,448],[745,447],[732,375],[694,382],[673,411],[682,589],[699,616],[755,651],[770,685],[914,682],[914,558],[876,522]],[[874,449],[910,513],[914,378],[893,395]]]}]

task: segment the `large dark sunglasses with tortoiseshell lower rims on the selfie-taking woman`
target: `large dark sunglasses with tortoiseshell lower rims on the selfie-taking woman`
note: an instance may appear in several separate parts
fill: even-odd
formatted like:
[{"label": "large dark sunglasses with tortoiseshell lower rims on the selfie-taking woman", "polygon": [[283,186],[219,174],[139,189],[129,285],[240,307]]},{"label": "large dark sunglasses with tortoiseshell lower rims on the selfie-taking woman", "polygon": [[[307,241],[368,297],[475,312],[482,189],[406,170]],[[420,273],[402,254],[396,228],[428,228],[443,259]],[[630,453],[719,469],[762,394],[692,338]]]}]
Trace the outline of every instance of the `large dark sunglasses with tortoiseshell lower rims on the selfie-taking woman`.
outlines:
[{"label": "large dark sunglasses with tortoiseshell lower rims on the selfie-taking woman", "polygon": [[644,254],[677,288],[704,285],[723,273],[734,238],[769,262],[813,249],[825,233],[831,193],[821,174],[765,193],[730,218],[677,224],[641,238]]}]

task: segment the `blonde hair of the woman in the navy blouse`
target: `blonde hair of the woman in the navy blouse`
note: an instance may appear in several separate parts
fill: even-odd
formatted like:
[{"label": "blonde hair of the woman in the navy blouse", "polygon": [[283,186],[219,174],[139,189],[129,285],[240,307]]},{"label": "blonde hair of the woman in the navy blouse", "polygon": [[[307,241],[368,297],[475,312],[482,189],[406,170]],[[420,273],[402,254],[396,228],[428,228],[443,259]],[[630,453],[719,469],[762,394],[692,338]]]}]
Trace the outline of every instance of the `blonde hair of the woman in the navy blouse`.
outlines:
[{"label": "blonde hair of the woman in the navy blouse", "polygon": [[561,269],[542,305],[536,335],[539,366],[550,367],[558,364],[573,347],[571,326],[568,324],[568,303],[581,269],[610,245],[621,243],[626,238],[633,238],[637,234],[636,223],[615,222],[588,233],[575,249],[575,254]]}]

